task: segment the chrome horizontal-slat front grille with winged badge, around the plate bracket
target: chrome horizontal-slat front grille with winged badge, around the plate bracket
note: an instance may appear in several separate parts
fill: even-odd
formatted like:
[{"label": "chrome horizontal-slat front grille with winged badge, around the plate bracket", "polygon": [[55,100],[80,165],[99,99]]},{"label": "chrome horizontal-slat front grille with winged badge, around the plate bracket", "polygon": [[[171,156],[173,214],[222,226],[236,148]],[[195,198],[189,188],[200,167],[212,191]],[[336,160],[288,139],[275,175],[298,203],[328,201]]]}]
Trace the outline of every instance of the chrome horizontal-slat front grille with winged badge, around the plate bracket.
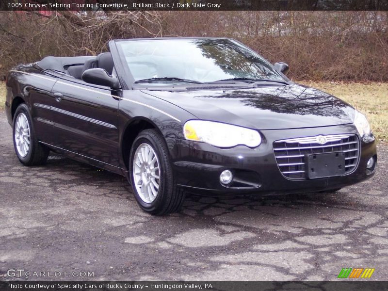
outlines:
[{"label": "chrome horizontal-slat front grille with winged badge, around the plate bracket", "polygon": [[307,178],[307,155],[344,152],[345,175],[356,170],[360,155],[355,134],[318,135],[274,142],[276,163],[284,177],[292,180]]}]

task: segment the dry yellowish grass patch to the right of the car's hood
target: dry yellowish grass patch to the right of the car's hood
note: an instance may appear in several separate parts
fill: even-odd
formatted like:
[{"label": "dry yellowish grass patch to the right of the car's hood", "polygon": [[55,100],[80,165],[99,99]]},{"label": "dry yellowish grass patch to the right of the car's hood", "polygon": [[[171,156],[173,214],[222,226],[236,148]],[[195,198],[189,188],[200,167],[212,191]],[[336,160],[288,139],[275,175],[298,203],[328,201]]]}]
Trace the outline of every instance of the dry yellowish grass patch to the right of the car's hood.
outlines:
[{"label": "dry yellowish grass patch to the right of the car's hood", "polygon": [[342,83],[299,81],[339,97],[364,113],[378,141],[388,142],[388,83]]}]

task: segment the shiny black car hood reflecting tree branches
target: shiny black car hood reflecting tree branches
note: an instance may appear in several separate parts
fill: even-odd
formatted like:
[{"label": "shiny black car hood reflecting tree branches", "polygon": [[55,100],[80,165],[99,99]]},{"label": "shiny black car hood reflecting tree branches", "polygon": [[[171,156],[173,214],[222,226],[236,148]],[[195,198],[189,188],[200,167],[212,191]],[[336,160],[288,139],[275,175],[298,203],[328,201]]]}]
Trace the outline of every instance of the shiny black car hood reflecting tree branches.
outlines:
[{"label": "shiny black car hood reflecting tree branches", "polygon": [[145,91],[199,119],[253,129],[293,129],[349,124],[354,109],[322,91],[299,84],[238,90]]}]

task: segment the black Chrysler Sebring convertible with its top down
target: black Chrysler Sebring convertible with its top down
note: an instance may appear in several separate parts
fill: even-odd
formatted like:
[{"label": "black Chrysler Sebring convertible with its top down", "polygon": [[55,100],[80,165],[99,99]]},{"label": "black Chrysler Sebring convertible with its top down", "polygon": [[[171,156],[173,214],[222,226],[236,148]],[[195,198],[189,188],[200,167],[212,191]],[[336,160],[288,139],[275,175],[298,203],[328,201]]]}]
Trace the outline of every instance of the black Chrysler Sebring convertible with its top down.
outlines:
[{"label": "black Chrysler Sebring convertible with its top down", "polygon": [[17,158],[49,151],[124,175],[140,207],[194,194],[333,192],[371,178],[365,116],[290,81],[226,38],[112,40],[96,57],[45,57],[6,80]]}]

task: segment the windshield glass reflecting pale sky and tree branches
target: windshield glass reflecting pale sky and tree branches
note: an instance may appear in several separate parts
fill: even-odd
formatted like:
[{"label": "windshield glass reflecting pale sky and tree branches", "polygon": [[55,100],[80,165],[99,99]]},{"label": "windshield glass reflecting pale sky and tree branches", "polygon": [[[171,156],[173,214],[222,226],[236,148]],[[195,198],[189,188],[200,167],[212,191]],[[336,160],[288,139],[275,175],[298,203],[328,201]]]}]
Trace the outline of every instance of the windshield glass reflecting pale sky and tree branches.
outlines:
[{"label": "windshield glass reflecting pale sky and tree branches", "polygon": [[138,83],[287,81],[263,57],[231,39],[161,38],[116,44]]}]

